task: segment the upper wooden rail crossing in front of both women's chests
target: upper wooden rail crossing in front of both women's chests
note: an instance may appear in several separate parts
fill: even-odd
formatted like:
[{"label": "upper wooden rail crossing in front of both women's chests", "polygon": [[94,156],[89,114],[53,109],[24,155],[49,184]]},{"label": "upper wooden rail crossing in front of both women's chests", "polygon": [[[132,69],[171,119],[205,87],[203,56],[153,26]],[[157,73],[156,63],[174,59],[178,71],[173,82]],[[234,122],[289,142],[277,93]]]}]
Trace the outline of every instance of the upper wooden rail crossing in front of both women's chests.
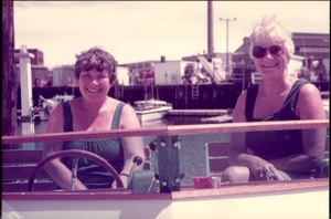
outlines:
[{"label": "upper wooden rail crossing in front of both women's chests", "polygon": [[177,125],[153,128],[113,129],[100,132],[52,133],[24,136],[2,136],[2,144],[64,142],[76,139],[114,138],[129,136],[166,136],[166,135],[199,135],[214,133],[242,133],[255,131],[327,128],[329,119],[289,121],[289,122],[254,122],[203,125]]}]

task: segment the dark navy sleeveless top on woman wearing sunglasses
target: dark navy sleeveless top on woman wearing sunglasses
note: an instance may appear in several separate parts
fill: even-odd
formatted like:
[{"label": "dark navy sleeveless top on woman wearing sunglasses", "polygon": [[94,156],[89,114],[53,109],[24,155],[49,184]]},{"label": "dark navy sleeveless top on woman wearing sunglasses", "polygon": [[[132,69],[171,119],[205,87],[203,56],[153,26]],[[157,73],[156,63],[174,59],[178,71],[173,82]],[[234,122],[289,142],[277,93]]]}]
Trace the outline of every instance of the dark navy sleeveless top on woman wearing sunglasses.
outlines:
[{"label": "dark navy sleeveless top on woman wearing sunglasses", "polygon": [[[258,84],[247,90],[245,115],[247,122],[264,121],[298,121],[296,105],[300,88],[307,84],[306,80],[298,80],[292,85],[280,111],[268,116],[265,119],[253,118]],[[247,132],[246,146],[253,150],[254,155],[264,159],[279,158],[293,154],[303,153],[301,129],[293,131],[265,131]]]}]

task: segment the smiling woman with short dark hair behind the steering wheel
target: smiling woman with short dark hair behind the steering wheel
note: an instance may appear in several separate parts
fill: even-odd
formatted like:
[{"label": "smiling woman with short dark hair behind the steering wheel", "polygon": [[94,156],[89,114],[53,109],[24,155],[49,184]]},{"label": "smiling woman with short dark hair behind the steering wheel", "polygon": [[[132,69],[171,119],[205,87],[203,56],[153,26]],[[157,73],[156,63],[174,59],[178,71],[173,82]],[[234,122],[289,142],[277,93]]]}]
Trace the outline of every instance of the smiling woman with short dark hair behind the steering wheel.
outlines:
[{"label": "smiling woman with short dark hair behind the steering wheel", "polygon": [[[135,109],[107,95],[116,80],[117,62],[114,56],[95,46],[76,58],[75,76],[82,96],[53,108],[46,133],[140,128]],[[145,160],[142,137],[49,143],[44,146],[44,156],[66,149],[83,149],[102,156],[118,171],[125,187],[134,157],[140,156]],[[142,169],[142,166],[136,169]],[[72,158],[63,158],[51,161],[45,169],[57,185],[56,188],[70,189],[71,167]],[[116,181],[106,169],[83,158],[79,158],[77,178],[77,190],[116,187]]]}]

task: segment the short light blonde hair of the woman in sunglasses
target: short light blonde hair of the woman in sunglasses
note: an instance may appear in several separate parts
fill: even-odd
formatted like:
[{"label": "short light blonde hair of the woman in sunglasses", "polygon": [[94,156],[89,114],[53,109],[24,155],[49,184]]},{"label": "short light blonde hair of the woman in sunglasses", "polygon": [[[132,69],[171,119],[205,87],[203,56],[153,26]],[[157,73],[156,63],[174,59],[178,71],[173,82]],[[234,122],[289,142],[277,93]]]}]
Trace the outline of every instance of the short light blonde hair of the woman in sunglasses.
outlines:
[{"label": "short light blonde hair of the woman in sunglasses", "polygon": [[256,43],[270,41],[275,44],[282,44],[286,56],[288,60],[291,59],[295,53],[292,33],[287,29],[284,21],[277,19],[276,15],[266,15],[260,23],[254,25],[253,33],[250,34],[250,59],[253,59],[253,48]]}]

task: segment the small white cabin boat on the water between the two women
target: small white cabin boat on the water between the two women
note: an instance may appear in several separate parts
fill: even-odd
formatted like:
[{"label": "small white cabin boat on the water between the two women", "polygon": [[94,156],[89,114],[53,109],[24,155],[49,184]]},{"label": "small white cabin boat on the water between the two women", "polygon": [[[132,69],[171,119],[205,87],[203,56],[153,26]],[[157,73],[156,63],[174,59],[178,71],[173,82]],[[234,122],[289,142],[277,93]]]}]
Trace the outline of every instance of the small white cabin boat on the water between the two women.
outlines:
[{"label": "small white cabin boat on the water between the two women", "polygon": [[151,98],[135,102],[135,111],[140,123],[162,118],[170,109],[172,109],[172,104],[166,101]]}]

